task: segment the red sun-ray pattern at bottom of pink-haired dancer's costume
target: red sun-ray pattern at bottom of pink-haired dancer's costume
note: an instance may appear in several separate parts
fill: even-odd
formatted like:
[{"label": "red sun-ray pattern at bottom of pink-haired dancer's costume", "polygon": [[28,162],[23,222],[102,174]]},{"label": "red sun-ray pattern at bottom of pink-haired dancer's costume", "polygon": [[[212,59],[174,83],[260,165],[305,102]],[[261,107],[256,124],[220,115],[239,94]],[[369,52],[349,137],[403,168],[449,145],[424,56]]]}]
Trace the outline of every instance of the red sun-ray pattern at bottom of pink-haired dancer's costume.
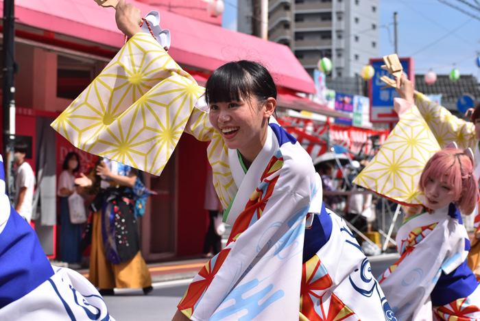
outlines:
[{"label": "red sun-ray pattern at bottom of pink-haired dancer's costume", "polygon": [[468,298],[459,298],[448,305],[433,307],[433,315],[437,321],[472,321],[479,320],[480,309],[476,305],[468,305]]}]

